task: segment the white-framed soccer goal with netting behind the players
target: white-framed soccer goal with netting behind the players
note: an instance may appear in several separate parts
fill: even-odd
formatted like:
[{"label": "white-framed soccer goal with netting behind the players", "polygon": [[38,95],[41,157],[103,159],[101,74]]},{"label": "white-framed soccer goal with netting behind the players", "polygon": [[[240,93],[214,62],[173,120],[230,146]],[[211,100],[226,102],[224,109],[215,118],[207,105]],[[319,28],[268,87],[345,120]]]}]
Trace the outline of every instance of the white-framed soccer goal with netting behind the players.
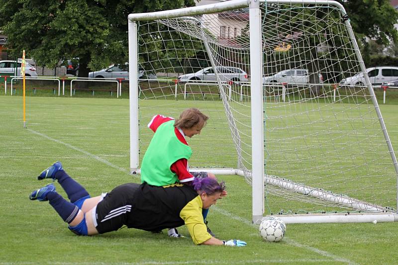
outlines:
[{"label": "white-framed soccer goal with netting behind the players", "polygon": [[253,222],[394,221],[398,164],[340,3],[229,0],[128,25],[131,173],[153,115],[198,107],[190,168],[244,177]]}]

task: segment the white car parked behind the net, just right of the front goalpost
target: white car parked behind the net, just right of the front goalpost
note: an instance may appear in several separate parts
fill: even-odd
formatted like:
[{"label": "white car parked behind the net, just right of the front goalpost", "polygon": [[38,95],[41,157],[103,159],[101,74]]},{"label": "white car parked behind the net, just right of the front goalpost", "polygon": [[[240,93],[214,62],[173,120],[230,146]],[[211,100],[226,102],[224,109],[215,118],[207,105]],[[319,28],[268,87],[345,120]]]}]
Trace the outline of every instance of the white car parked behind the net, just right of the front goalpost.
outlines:
[{"label": "white car parked behind the net, just right of the front goalpost", "polygon": [[[317,73],[319,83],[323,82],[323,77],[320,73]],[[272,76],[263,77],[263,83],[287,83],[291,85],[296,84],[308,84],[309,83],[309,73],[307,69],[298,68],[298,69],[288,69],[281,72],[276,73]]]}]

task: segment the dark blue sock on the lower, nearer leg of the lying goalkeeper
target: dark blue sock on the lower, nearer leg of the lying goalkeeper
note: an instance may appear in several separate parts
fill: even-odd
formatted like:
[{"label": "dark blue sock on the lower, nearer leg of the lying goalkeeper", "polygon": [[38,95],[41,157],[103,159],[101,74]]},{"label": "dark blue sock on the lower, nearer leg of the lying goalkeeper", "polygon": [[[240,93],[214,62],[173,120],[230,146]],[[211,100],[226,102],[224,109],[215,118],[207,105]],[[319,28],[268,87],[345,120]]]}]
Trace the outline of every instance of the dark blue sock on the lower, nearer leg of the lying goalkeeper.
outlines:
[{"label": "dark blue sock on the lower, nearer leg of the lying goalkeeper", "polygon": [[48,202],[57,211],[62,220],[66,223],[70,223],[75,219],[76,215],[79,213],[79,207],[72,202],[64,199],[56,191],[50,191],[47,194]]}]

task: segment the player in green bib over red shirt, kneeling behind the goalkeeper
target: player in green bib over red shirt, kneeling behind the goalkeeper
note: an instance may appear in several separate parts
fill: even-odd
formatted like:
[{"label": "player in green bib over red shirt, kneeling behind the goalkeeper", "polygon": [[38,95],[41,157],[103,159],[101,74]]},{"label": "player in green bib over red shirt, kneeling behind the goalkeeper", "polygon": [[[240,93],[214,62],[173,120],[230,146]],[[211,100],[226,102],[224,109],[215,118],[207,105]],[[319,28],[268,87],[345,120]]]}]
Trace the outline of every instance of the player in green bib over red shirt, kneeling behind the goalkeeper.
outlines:
[{"label": "player in green bib over red shirt, kneeling behind the goalkeeper", "polygon": [[[200,134],[206,125],[208,117],[197,108],[184,110],[180,118],[155,115],[149,122],[148,127],[155,133],[141,164],[141,182],[154,186],[164,186],[176,182],[192,184],[195,177],[213,177],[211,173],[190,173],[188,159],[191,158],[192,150],[185,137],[193,137]],[[221,196],[226,196],[223,191]],[[207,208],[203,208],[203,220],[207,224]],[[212,236],[214,234],[207,228]],[[179,237],[177,229],[168,231],[169,236]]]}]

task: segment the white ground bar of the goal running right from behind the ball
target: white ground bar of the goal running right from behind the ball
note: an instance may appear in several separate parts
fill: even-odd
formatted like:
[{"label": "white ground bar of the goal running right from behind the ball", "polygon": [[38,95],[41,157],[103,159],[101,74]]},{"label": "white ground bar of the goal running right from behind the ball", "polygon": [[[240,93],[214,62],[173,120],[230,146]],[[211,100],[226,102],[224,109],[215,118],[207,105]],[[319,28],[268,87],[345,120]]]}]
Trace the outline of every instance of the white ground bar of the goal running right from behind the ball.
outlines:
[{"label": "white ground bar of the goal running right from behind the ball", "polygon": [[372,223],[375,221],[376,222],[398,221],[398,214],[392,212],[268,215],[263,217],[262,219],[265,219],[267,217],[278,217],[282,221],[284,221],[285,224]]}]

